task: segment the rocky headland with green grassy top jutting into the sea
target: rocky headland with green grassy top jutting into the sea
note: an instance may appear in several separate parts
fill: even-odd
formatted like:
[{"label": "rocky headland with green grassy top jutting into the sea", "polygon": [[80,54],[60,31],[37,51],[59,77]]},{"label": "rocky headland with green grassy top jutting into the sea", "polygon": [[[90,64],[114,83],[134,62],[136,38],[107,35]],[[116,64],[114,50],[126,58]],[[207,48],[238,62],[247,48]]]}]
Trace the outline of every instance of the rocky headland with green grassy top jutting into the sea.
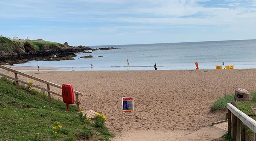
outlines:
[{"label": "rocky headland with green grassy top jutting into the sea", "polygon": [[[70,46],[64,44],[40,40],[9,40],[0,37],[0,64],[25,63],[27,61],[56,61],[73,60],[75,53],[93,53],[96,50],[111,50],[113,47],[89,48],[85,46]],[[90,51],[89,51],[90,50]],[[89,52],[88,52],[89,51]],[[56,57],[54,57],[54,55]],[[90,55],[91,56],[91,55]]]}]

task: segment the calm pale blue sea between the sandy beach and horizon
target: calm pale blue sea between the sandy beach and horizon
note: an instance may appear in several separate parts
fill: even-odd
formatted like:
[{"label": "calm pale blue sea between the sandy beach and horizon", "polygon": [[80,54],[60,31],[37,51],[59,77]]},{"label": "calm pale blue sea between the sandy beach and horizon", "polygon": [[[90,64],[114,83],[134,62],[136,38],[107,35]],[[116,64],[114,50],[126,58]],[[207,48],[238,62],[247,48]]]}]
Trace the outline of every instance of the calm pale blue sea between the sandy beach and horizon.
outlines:
[{"label": "calm pale blue sea between the sandy beach and horizon", "polygon": [[[76,54],[75,60],[29,61],[17,66],[69,67],[63,71],[127,71],[215,69],[215,65],[235,65],[235,69],[256,68],[256,40],[229,40],[213,42],[131,44],[113,46],[89,46],[90,48],[115,47],[114,50],[98,50],[92,54]],[[78,59],[93,55],[93,58]],[[98,57],[103,56],[103,57]],[[127,68],[127,59],[129,69]],[[93,68],[90,67],[93,64]]]}]

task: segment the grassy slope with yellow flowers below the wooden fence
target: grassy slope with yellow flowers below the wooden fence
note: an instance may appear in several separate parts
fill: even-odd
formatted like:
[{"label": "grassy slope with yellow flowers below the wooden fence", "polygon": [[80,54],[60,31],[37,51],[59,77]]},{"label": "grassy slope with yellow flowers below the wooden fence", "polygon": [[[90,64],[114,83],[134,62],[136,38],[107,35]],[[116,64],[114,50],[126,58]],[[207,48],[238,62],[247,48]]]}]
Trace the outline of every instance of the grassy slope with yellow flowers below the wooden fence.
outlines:
[{"label": "grassy slope with yellow flowers below the wooden fence", "polygon": [[[29,82],[33,83],[33,82]],[[87,119],[76,106],[38,92],[33,87],[0,78],[0,137],[4,141],[108,140],[113,137],[101,118]],[[100,123],[100,125],[96,123]]]}]

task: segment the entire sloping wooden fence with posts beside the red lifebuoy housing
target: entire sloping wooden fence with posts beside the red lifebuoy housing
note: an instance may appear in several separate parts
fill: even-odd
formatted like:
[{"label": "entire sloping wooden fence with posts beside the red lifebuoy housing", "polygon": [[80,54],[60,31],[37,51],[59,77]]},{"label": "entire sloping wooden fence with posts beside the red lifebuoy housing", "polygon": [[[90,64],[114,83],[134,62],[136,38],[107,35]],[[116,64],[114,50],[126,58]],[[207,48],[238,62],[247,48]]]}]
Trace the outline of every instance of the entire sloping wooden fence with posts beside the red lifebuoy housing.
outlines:
[{"label": "entire sloping wooden fence with posts beside the red lifebuoy housing", "polygon": [[[3,77],[6,77],[6,78],[9,78],[9,79],[14,80],[17,89],[19,89],[19,82],[20,82],[20,83],[23,83],[23,84],[26,84],[26,85],[29,85],[29,86],[32,86],[32,87],[36,87],[37,89],[46,91],[46,92],[48,93],[48,102],[51,102],[51,94],[57,95],[57,96],[59,96],[59,97],[62,97],[61,94],[55,93],[55,92],[53,92],[53,91],[50,90],[50,86],[57,87],[57,88],[60,88],[60,89],[61,89],[62,87],[61,87],[60,85],[57,85],[57,84],[54,84],[54,83],[52,83],[52,82],[48,82],[48,81],[42,80],[42,79],[40,79],[40,78],[37,78],[37,77],[31,76],[31,75],[25,74],[25,73],[23,73],[23,72],[16,71],[16,70],[11,69],[11,68],[7,68],[7,67],[5,67],[5,66],[3,66],[3,65],[0,65],[0,68],[5,69],[5,70],[7,70],[7,71],[10,71],[10,72],[13,72],[13,73],[14,73],[15,78],[10,77],[10,76],[7,76],[7,75],[2,74],[2,73],[0,73],[0,76],[3,76]],[[27,82],[24,82],[24,81],[21,81],[21,80],[18,80],[18,75],[17,75],[17,74],[20,74],[20,75],[22,75],[22,76],[31,78],[31,79],[33,79],[33,80],[42,82],[42,83],[44,83],[44,84],[47,85],[47,89],[42,88],[42,87],[39,87],[39,86],[36,86],[36,85],[33,85],[33,84],[30,84],[30,83],[27,83]],[[79,111],[79,110],[80,110],[79,104],[81,104],[81,103],[78,101],[78,95],[82,95],[82,93],[80,93],[80,92],[78,92],[78,91],[75,91],[75,90],[74,90],[74,93],[75,93],[75,95],[76,95],[76,100],[75,100],[75,102],[76,102],[76,106],[77,106],[77,111]]]}]

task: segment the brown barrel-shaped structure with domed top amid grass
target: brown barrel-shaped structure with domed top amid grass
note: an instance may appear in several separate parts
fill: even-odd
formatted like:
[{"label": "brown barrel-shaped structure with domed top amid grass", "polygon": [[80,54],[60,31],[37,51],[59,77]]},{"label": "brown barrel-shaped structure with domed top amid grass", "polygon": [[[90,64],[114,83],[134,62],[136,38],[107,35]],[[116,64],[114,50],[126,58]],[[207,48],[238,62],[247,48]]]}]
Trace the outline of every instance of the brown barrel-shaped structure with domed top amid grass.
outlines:
[{"label": "brown barrel-shaped structure with domed top amid grass", "polygon": [[252,95],[245,89],[236,89],[235,101],[252,101]]}]

